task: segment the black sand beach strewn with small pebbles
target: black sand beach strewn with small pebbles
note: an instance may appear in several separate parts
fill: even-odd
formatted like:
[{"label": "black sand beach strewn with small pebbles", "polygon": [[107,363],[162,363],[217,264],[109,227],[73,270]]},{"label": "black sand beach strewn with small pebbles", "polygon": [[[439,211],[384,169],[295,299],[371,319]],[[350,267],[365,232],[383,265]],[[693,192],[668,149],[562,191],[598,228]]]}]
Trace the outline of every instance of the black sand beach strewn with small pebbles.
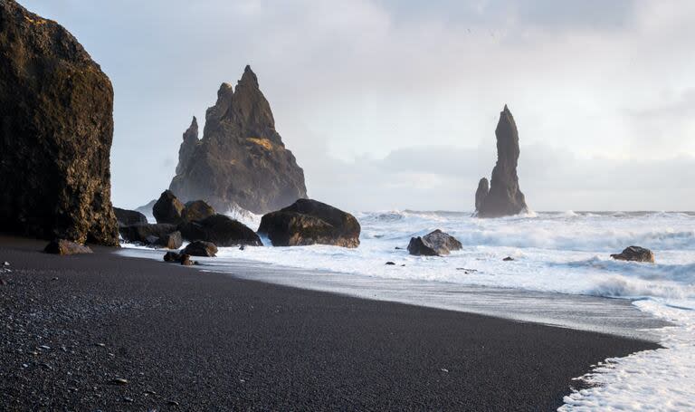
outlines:
[{"label": "black sand beach strewn with small pebbles", "polygon": [[2,410],[552,410],[656,347],[44,244],[0,237]]}]

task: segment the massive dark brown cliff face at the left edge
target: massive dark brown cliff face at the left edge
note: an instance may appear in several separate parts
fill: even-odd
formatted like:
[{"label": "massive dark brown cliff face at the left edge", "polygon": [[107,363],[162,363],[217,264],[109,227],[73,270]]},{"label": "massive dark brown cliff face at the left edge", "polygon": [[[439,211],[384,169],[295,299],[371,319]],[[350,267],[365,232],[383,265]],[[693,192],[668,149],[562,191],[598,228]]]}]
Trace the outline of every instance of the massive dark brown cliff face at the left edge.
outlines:
[{"label": "massive dark brown cliff face at the left edge", "polygon": [[0,1],[0,222],[9,232],[117,245],[113,90],[60,24]]}]

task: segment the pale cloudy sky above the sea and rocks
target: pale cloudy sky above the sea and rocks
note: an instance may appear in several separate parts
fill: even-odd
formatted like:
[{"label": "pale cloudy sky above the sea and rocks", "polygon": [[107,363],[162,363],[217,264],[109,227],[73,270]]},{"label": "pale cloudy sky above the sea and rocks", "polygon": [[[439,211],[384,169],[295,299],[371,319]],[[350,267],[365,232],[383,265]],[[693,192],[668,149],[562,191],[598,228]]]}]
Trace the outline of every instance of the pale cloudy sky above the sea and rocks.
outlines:
[{"label": "pale cloudy sky above the sea and rocks", "polygon": [[174,176],[182,134],[246,64],[309,197],[473,208],[505,104],[545,210],[695,210],[690,0],[20,0],[114,86],[112,200]]}]

